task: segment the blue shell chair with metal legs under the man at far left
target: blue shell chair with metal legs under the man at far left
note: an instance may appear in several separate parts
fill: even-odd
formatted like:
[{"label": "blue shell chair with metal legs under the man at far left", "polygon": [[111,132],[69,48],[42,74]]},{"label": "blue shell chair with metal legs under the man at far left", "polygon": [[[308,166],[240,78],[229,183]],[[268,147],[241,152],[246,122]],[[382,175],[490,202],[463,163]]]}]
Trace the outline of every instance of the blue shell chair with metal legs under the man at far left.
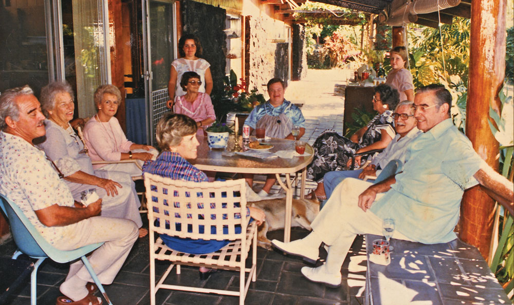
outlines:
[{"label": "blue shell chair with metal legs under the man at far left", "polygon": [[59,263],[69,262],[80,257],[107,303],[110,305],[113,304],[105,293],[102,283],[98,279],[93,267],[91,267],[86,258],[86,254],[102,246],[103,242],[93,243],[71,251],[58,250],[41,236],[18,206],[3,194],[0,194],[0,199],[0,207],[2,207],[2,210],[9,219],[12,236],[19,249],[14,252],[12,258],[16,259],[21,254],[26,254],[32,258],[38,259],[38,261],[34,263],[34,270],[30,275],[31,305],[35,305],[36,303],[36,273],[38,272],[38,267],[47,257]]}]

